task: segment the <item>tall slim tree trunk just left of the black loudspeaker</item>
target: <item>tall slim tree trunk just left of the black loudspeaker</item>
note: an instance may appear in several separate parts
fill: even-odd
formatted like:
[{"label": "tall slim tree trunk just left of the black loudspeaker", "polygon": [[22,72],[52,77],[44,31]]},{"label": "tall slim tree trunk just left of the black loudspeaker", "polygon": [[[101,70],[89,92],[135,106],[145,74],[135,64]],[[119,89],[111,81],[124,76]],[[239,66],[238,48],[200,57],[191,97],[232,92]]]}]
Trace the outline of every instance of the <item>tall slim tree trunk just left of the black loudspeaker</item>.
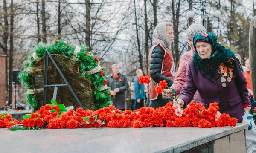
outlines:
[{"label": "tall slim tree trunk just left of the black loudspeaker", "polygon": [[8,105],[12,104],[12,70],[13,70],[13,0],[11,0],[11,19],[10,19],[10,52],[9,52],[9,101]]}]

